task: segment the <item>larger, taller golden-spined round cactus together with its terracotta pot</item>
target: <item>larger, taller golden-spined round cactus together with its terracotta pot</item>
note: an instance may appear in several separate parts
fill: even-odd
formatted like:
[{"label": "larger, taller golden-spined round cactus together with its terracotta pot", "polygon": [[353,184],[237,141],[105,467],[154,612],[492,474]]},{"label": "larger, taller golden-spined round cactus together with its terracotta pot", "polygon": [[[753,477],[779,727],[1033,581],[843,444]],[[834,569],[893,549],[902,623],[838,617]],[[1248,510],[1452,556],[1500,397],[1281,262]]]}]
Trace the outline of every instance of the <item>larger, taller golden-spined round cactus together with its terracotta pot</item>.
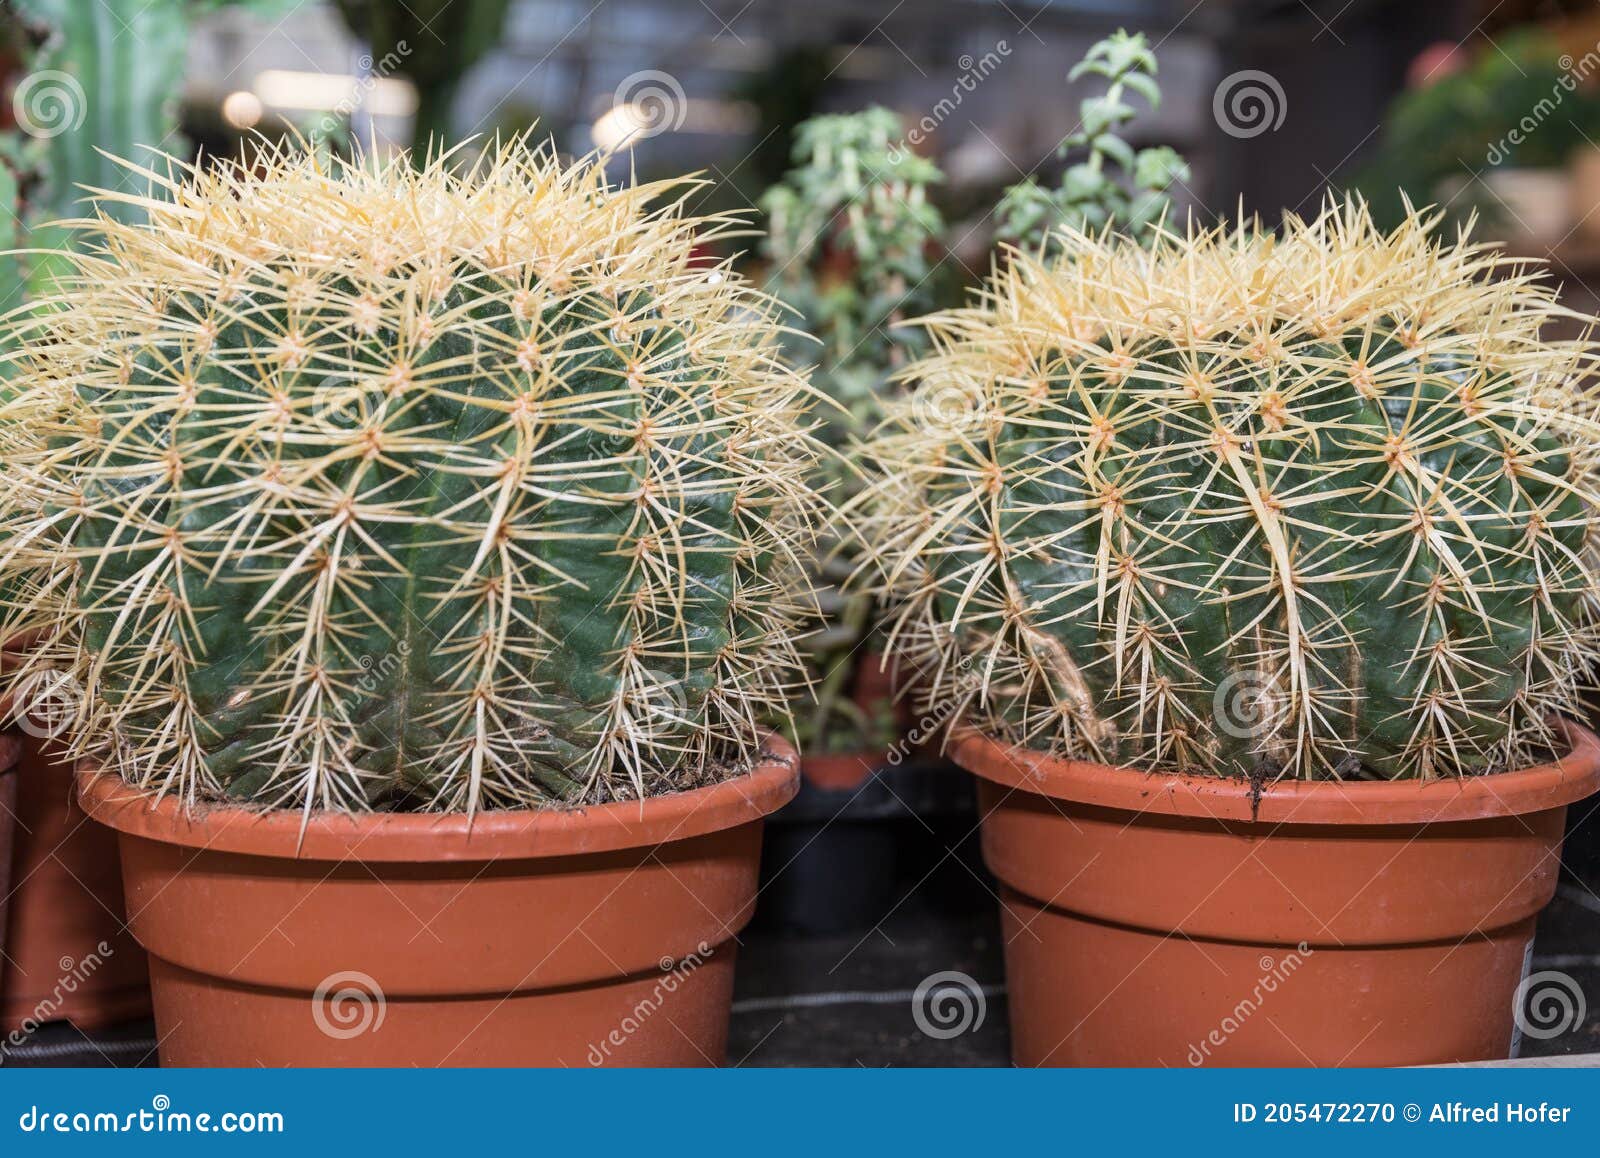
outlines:
[{"label": "larger, taller golden-spined round cactus together with its terracotta pot", "polygon": [[523,141],[146,174],[24,369],[162,1060],[720,1062],[821,510],[728,222]]}]

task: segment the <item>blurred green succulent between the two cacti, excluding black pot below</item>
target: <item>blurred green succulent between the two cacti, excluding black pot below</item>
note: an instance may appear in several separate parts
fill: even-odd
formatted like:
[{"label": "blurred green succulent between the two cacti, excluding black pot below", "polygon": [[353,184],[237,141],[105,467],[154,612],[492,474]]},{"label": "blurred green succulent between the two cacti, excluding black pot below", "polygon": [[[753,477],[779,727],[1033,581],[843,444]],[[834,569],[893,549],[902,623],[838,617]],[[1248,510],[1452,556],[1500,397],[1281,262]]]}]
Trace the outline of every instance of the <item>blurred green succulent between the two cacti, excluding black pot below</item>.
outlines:
[{"label": "blurred green succulent between the two cacti, excluding black pot below", "polygon": [[[934,305],[933,248],[944,222],[928,194],[944,178],[904,142],[888,109],[813,117],[795,131],[795,168],[766,192],[768,288],[798,315],[789,357],[834,405],[821,435],[845,451],[883,419],[891,379],[922,349],[901,326]],[[835,501],[859,489],[840,454],[829,461]],[[899,739],[870,595],[840,590],[848,560],[822,544],[816,571],[822,629],[808,641],[816,707],[798,713],[805,776],[854,789]]]}]

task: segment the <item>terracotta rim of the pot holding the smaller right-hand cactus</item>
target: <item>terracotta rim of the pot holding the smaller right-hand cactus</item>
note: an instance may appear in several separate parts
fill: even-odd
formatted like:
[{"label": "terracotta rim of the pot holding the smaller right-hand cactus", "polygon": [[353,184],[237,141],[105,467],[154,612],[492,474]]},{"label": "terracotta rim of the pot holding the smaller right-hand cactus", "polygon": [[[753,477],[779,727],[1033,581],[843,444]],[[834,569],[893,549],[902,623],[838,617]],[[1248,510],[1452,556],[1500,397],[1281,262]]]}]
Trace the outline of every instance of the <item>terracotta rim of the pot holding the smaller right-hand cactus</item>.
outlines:
[{"label": "terracotta rim of the pot holding the smaller right-hand cactus", "polygon": [[[1557,718],[1571,752],[1493,776],[1437,781],[1275,781],[1253,801],[1250,781],[1114,768],[1002,744],[976,728],[950,736],[950,757],[986,781],[1051,800],[1128,813],[1259,824],[1398,825],[1485,821],[1563,808],[1600,790],[1600,737]],[[1259,805],[1259,806],[1258,806]]]}]

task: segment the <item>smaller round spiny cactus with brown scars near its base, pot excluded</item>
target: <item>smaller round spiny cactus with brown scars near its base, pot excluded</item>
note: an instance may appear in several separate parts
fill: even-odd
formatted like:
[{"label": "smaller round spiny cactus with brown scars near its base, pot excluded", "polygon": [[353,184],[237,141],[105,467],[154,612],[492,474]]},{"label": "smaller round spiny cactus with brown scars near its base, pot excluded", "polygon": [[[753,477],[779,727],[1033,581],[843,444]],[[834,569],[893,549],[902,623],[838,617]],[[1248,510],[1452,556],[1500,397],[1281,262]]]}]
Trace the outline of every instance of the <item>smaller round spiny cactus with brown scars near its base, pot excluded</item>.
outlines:
[{"label": "smaller round spiny cactus with brown scars near its base, pot excluded", "polygon": [[875,445],[941,718],[1274,779],[1536,763],[1589,651],[1581,342],[1526,267],[1360,205],[1018,258]]}]

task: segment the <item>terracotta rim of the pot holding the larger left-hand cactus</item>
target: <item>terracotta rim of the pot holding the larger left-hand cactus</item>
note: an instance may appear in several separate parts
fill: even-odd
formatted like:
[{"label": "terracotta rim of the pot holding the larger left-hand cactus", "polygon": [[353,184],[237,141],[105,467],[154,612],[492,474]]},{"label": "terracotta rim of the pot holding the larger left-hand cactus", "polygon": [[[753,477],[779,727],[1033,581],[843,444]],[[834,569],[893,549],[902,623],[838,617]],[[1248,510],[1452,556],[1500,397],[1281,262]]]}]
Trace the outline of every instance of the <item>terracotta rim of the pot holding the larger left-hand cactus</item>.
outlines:
[{"label": "terracotta rim of the pot holding the larger left-hand cactus", "polygon": [[99,824],[211,853],[290,861],[525,861],[650,848],[760,821],[800,789],[800,758],[770,734],[750,771],[722,784],[587,808],[461,813],[312,813],[202,805],[125,784],[94,760],[77,766],[78,803]]}]

